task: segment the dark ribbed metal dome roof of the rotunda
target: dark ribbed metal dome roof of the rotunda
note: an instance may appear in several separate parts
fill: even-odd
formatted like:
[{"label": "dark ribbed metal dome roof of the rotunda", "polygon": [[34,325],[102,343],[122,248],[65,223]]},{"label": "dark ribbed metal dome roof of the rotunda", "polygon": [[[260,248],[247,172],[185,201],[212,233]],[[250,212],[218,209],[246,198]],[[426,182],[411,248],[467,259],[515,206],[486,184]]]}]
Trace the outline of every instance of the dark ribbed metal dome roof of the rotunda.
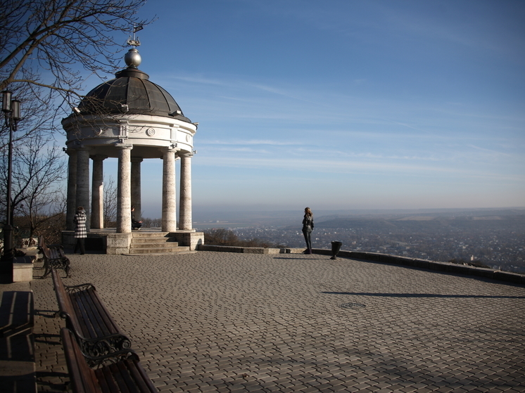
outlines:
[{"label": "dark ribbed metal dome roof of the rotunda", "polygon": [[81,113],[156,115],[191,122],[184,117],[173,97],[158,84],[150,82],[145,72],[127,67],[115,77],[89,91],[78,106]]}]

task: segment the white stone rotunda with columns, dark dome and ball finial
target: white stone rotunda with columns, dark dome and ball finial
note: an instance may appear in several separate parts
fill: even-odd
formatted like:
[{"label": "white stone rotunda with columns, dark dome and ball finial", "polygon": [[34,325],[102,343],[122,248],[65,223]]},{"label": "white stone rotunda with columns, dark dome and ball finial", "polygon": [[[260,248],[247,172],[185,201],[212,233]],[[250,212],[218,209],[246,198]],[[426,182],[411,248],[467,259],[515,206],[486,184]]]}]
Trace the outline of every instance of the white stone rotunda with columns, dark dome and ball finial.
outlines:
[{"label": "white stone rotunda with columns, dark dome and ball finial", "polygon": [[[103,160],[115,157],[118,158],[116,233],[132,233],[132,205],[135,212],[141,212],[141,162],[159,158],[163,160],[161,231],[195,232],[191,222],[191,157],[198,123],[185,117],[175,99],[138,69],[141,57],[137,49],[129,49],[125,62],[125,70],[89,91],[72,114],[62,120],[67,134],[65,151],[69,155],[66,230],[75,228],[73,217],[77,206],[87,211],[88,229],[103,228]],[[177,227],[175,161],[178,159]],[[93,162],[91,200],[89,160]]]}]

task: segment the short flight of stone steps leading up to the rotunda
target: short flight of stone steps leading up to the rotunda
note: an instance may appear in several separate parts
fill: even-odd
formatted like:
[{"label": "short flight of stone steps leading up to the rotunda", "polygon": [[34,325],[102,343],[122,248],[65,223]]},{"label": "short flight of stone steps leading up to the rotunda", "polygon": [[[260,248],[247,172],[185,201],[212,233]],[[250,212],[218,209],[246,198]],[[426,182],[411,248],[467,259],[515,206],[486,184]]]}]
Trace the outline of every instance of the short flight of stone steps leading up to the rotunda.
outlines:
[{"label": "short flight of stone steps leading up to the rotunda", "polygon": [[189,247],[179,246],[168,232],[133,231],[129,254],[177,254],[190,252]]}]

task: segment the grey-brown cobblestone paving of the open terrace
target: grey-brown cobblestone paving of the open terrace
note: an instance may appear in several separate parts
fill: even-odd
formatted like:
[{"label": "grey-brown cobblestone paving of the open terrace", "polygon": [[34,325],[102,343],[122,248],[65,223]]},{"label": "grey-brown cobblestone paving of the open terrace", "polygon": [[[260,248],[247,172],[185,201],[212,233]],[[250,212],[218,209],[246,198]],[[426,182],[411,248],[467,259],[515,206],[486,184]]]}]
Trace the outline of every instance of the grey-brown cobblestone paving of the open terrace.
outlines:
[{"label": "grey-brown cobblestone paving of the open terrace", "polygon": [[[160,392],[525,392],[525,287],[320,255],[71,255]],[[34,280],[39,391],[67,369]]]}]

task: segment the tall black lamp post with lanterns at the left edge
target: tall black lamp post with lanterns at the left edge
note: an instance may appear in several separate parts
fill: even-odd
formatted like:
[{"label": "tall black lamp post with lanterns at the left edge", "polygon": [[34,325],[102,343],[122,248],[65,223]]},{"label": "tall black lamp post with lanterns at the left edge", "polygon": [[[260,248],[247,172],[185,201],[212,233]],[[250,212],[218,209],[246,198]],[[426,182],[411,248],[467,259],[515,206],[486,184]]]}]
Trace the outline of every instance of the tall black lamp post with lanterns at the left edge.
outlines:
[{"label": "tall black lamp post with lanterns at the left edge", "polygon": [[[7,163],[7,201],[6,201],[6,225],[4,226],[4,264],[13,262],[13,209],[11,207],[11,172],[13,167],[13,131],[20,120],[20,101],[12,99],[11,91],[2,91],[2,112],[6,117],[6,127],[9,129],[9,150]],[[3,266],[7,269],[7,266]]]}]

